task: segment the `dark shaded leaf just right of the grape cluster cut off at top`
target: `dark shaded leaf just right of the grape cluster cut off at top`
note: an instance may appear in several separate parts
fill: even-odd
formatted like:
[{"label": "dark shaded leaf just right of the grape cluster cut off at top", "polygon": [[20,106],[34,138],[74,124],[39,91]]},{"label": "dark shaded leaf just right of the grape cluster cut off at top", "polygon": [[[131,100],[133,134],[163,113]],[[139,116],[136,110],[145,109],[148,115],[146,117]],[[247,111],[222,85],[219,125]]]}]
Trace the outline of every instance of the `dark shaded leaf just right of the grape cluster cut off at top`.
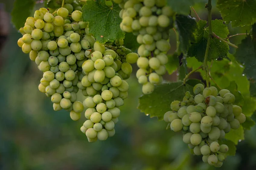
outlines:
[{"label": "dark shaded leaf just right of the grape cluster cut off at top", "polygon": [[187,53],[191,42],[195,42],[195,31],[197,23],[189,15],[176,15],[175,27],[178,33],[177,49],[178,52]]}]

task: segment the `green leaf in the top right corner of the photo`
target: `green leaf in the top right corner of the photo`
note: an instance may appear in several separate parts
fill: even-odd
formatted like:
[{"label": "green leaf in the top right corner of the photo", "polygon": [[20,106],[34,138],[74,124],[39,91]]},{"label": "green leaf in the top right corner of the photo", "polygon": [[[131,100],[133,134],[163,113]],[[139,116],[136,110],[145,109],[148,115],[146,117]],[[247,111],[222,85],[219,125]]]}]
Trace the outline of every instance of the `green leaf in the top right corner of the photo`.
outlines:
[{"label": "green leaf in the top right corner of the photo", "polygon": [[217,8],[233,27],[252,25],[256,20],[256,0],[218,0]]}]

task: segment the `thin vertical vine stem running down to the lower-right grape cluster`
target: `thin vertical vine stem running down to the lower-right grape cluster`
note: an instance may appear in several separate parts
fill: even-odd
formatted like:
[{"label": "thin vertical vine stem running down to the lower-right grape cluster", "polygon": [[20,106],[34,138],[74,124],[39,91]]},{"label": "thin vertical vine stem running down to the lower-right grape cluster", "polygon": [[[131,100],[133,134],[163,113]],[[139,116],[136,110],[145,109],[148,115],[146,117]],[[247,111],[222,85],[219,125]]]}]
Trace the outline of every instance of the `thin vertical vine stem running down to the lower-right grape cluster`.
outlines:
[{"label": "thin vertical vine stem running down to the lower-right grape cluster", "polygon": [[207,60],[208,60],[208,53],[209,53],[209,48],[210,48],[210,41],[213,36],[212,32],[212,0],[208,0],[208,3],[206,4],[205,8],[208,10],[208,24],[209,24],[209,36],[207,40],[207,46],[204,54],[204,64],[203,64],[203,69],[206,72],[206,85],[209,87],[209,70],[208,70],[208,65],[207,65]]}]

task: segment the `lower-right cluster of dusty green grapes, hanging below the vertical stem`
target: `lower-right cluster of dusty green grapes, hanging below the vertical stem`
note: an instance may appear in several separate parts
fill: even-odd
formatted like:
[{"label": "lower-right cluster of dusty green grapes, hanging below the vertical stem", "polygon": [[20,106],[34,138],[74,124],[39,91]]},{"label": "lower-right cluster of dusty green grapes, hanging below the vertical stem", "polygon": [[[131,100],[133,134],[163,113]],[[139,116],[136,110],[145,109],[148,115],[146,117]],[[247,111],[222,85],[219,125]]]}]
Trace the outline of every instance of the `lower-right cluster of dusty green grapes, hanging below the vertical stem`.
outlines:
[{"label": "lower-right cluster of dusty green grapes, hanging below the vertical stem", "polygon": [[233,105],[235,96],[229,90],[218,92],[217,88],[204,88],[197,84],[195,96],[189,91],[183,101],[171,103],[172,111],[164,115],[171,130],[183,132],[183,142],[193,149],[195,155],[203,155],[205,163],[221,167],[228,151],[226,144],[219,144],[230,129],[238,129],[246,117],[241,107]]}]

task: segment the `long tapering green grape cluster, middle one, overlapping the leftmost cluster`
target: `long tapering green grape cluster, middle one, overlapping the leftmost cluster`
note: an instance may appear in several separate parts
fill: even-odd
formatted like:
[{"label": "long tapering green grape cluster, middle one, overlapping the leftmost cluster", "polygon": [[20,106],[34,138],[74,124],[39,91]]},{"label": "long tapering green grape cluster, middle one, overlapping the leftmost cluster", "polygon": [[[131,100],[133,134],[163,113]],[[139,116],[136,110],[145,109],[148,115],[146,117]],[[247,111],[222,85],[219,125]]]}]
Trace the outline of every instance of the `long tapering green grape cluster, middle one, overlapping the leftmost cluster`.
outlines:
[{"label": "long tapering green grape cluster, middle one, overlapping the leftmost cluster", "polygon": [[89,142],[106,140],[115,134],[119,107],[128,97],[129,85],[125,79],[132,72],[130,63],[135,63],[139,57],[122,46],[110,48],[95,42],[93,49],[85,51],[89,59],[82,65],[85,75],[81,79],[81,89],[86,96],[83,104],[88,120],[81,126],[81,131]]}]

